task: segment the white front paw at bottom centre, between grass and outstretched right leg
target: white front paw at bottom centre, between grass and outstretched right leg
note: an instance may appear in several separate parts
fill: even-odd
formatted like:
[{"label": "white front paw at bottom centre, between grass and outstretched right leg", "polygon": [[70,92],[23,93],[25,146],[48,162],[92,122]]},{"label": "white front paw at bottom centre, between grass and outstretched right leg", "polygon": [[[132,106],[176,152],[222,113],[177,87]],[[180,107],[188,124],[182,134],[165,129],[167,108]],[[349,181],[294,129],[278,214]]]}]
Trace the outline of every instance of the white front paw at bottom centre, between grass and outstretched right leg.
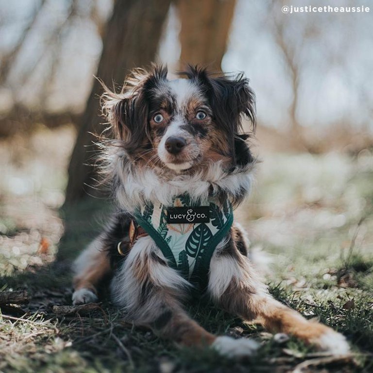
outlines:
[{"label": "white front paw at bottom centre, between grass and outstretched right leg", "polygon": [[220,355],[227,357],[245,357],[253,356],[260,347],[260,344],[253,339],[231,337],[217,337],[211,346]]}]

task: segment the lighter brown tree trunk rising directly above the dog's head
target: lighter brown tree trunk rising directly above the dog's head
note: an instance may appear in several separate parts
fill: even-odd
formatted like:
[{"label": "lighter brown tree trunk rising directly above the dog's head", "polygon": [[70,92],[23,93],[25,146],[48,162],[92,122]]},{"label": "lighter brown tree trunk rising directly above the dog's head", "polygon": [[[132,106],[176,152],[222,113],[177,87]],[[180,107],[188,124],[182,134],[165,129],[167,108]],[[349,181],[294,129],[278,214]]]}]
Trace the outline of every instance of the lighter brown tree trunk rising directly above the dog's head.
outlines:
[{"label": "lighter brown tree trunk rising directly above the dog's head", "polygon": [[179,0],[182,45],[180,68],[186,63],[221,71],[236,0]]}]

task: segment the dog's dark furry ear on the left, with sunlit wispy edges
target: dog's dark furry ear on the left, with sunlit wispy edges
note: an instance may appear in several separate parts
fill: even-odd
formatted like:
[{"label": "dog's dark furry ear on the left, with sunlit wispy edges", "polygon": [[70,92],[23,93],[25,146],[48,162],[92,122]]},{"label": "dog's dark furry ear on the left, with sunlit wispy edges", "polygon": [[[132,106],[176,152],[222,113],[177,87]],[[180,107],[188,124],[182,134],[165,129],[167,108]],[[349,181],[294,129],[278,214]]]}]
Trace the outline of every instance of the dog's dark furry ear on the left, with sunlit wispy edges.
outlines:
[{"label": "dog's dark furry ear on the left, with sunlit wispy edges", "polygon": [[131,154],[149,142],[149,97],[160,81],[167,79],[167,68],[152,66],[150,71],[136,69],[126,80],[120,93],[103,85],[102,113],[108,119],[113,135],[123,141]]}]

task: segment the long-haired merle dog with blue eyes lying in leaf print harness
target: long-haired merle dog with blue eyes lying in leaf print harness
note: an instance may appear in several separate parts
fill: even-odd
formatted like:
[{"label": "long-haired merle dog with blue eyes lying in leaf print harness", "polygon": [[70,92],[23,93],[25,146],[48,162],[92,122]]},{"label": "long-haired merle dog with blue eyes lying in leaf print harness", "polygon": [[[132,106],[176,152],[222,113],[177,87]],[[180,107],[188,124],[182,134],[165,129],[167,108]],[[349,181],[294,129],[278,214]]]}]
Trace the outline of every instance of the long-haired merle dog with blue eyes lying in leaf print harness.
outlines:
[{"label": "long-haired merle dog with blue eyes lying in leaf print harness", "polygon": [[112,276],[113,302],[135,325],[184,346],[251,356],[253,339],[215,336],[183,308],[206,294],[223,310],[331,354],[346,339],[308,321],[269,294],[233,211],[249,193],[256,158],[255,96],[242,74],[191,67],[168,80],[167,68],[136,69],[120,93],[105,87],[102,111],[114,139],[101,141],[102,169],[118,213],[74,263],[74,305],[96,302]]}]

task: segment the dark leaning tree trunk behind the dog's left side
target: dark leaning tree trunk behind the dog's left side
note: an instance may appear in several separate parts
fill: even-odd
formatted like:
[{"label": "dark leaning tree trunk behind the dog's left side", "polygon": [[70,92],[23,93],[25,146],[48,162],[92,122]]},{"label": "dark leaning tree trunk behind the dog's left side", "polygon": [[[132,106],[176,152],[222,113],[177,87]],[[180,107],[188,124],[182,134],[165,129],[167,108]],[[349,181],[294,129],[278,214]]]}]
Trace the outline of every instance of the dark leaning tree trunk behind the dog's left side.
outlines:
[{"label": "dark leaning tree trunk behind the dog's left side", "polygon": [[[103,49],[97,76],[110,86],[121,85],[129,70],[144,67],[155,58],[162,26],[170,7],[170,0],[117,0],[113,15],[103,37]],[[79,58],[79,57],[78,57]],[[68,167],[66,204],[83,197],[87,192],[100,195],[92,188],[94,169],[88,166],[96,154],[92,133],[101,133],[102,118],[98,96],[101,85],[94,80],[85,113],[79,123],[79,133]]]}]

